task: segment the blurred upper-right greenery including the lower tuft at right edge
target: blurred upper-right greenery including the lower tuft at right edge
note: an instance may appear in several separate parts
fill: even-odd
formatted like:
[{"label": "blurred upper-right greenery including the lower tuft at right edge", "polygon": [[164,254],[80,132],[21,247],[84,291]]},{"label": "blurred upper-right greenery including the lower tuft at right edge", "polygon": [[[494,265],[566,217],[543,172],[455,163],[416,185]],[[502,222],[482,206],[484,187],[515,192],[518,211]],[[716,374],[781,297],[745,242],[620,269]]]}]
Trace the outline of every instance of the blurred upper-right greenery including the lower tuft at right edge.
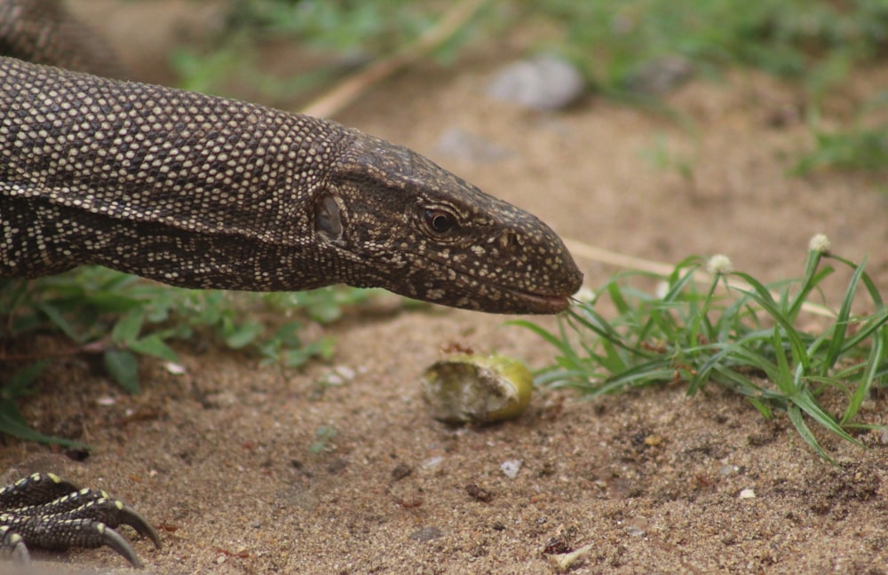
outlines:
[{"label": "blurred upper-right greenery including the lower tuft at right edge", "polygon": [[[884,122],[854,122],[841,130],[823,130],[820,122],[812,122],[826,110],[849,104],[857,114],[874,112],[873,101],[860,101],[861,95],[849,89],[849,79],[880,66],[888,51],[884,0],[553,0],[523,5],[528,20],[543,19],[559,32],[558,40],[538,49],[559,51],[574,61],[589,83],[610,98],[662,110],[662,92],[639,91],[638,86],[646,85],[646,78],[651,83],[658,75],[668,77],[670,60],[683,62],[689,71],[677,78],[690,71],[718,76],[729,67],[762,70],[800,88],[814,141],[810,151],[800,154],[795,175],[815,169],[885,169]],[[882,108],[875,111],[884,116],[884,91],[875,100]]]}]

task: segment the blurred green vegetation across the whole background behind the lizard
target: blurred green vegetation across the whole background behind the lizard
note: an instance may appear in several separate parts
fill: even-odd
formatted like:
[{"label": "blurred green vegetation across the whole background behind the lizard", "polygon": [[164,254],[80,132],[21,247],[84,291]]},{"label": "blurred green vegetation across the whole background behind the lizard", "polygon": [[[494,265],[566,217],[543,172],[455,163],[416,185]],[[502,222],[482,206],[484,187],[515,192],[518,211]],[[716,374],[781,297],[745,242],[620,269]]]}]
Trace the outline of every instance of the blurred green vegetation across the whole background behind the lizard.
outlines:
[{"label": "blurred green vegetation across the whole background behind the lizard", "polygon": [[[410,45],[456,4],[232,0],[218,45],[205,53],[179,51],[176,64],[189,89],[224,92],[234,74],[272,100],[286,94],[293,101]],[[660,106],[657,94],[639,93],[636,84],[665,59],[681,59],[704,77],[733,67],[779,76],[801,89],[805,121],[816,135],[793,173],[884,169],[888,123],[880,114],[888,91],[855,102],[860,95],[849,93],[847,83],[888,53],[888,0],[488,0],[432,57],[456,62],[467,46],[516,30],[532,37],[541,31],[534,51],[559,53],[583,71],[591,90],[632,104]],[[270,40],[336,57],[297,77],[277,78],[259,72],[256,46]],[[830,98],[859,114],[829,117]]]}]

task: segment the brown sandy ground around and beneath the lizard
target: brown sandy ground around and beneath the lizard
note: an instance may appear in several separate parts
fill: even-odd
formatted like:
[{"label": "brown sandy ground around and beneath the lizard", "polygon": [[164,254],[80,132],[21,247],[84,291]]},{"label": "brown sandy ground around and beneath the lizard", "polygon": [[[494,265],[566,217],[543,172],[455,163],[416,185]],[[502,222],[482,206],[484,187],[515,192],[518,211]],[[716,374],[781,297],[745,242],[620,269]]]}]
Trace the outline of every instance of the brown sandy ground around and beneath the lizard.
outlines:
[{"label": "brown sandy ground around and beneath the lizard", "polygon": [[[174,4],[151,11],[164,29],[178,25],[164,16],[175,15],[165,12]],[[121,24],[130,21],[123,12],[145,10],[139,4],[78,5],[110,10],[99,24],[127,59],[163,61],[156,46],[144,47],[161,28],[146,31],[141,14],[137,26]],[[431,156],[567,238],[663,262],[725,253],[736,268],[777,280],[797,277],[809,238],[825,232],[836,252],[868,255],[885,285],[882,184],[786,176],[793,154],[810,144],[791,117],[774,125],[797,101],[787,87],[740,74],[690,83],[668,103],[693,120],[693,133],[596,98],[530,114],[484,96],[522,47],[492,42],[458,69],[413,69],[337,119]],[[867,89],[885,80],[876,71],[859,82]],[[436,144],[452,128],[510,153],[442,155]],[[658,138],[690,161],[693,177],[646,160]],[[590,287],[614,272],[580,263]],[[89,358],[71,358],[23,408],[38,429],[86,440],[95,452],[75,462],[6,438],[0,469],[7,477],[52,470],[128,500],[161,532],[161,550],[135,541],[158,573],[549,573],[544,549],[586,545],[591,552],[572,572],[888,572],[880,434],[861,437],[868,450],[821,437],[839,461],[832,466],[782,416],[764,421],[718,390],[686,398],[668,386],[593,402],[543,390],[518,420],[488,427],[430,419],[418,376],[441,346],[507,353],[534,367],[551,361],[550,349],[505,319],[446,309],[351,314],[328,332],[338,342],[333,365],[358,374],[320,397],[316,382],[329,365],[283,371],[211,345],[180,350],[184,375],[145,362],[136,397]],[[52,342],[33,343],[43,345]],[[884,395],[863,411],[884,422]],[[312,453],[324,426],[337,435]],[[504,461],[520,461],[516,477],[503,473]],[[107,549],[36,556],[63,571],[128,571]]]}]

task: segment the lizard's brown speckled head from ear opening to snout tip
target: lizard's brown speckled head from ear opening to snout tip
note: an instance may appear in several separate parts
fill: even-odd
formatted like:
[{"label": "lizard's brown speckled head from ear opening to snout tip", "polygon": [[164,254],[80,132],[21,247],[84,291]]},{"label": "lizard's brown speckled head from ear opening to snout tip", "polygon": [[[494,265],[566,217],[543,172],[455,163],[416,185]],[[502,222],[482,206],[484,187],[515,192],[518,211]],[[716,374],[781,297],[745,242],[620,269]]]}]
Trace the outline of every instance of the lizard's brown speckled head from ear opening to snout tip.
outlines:
[{"label": "lizard's brown speckled head from ear opening to snout tip", "polygon": [[549,226],[405,147],[356,133],[329,178],[314,227],[349,285],[470,310],[558,313],[583,282]]}]

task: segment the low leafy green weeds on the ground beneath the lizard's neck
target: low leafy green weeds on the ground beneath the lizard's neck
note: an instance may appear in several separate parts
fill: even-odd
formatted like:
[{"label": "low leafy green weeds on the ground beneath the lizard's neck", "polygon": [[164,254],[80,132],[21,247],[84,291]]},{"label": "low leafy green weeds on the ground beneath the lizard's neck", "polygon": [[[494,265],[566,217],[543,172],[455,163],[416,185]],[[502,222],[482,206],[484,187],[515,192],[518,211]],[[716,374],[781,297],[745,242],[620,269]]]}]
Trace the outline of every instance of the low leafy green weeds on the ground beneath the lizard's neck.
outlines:
[{"label": "low leafy green weeds on the ground beneath the lizard's neck", "polygon": [[38,280],[0,280],[0,366],[12,375],[0,385],[0,433],[32,441],[75,445],[29,429],[17,407],[57,357],[10,352],[15,338],[60,333],[70,342],[62,356],[99,354],[115,382],[139,391],[140,358],[178,360],[174,342],[205,340],[247,353],[262,364],[298,367],[329,359],[329,336],[306,341],[306,322],[329,324],[372,290],[321,288],[311,292],[253,294],[170,288],[99,266]]}]

